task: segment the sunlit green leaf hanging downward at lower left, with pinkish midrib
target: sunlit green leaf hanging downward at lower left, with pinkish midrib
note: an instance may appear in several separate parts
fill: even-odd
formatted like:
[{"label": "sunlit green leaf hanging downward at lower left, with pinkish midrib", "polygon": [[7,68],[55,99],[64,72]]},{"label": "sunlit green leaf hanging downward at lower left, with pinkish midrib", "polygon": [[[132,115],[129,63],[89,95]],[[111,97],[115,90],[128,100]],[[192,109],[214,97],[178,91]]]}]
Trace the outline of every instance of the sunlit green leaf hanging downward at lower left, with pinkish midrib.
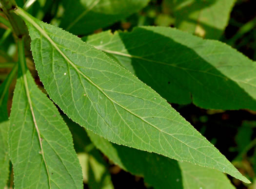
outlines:
[{"label": "sunlit green leaf hanging downward at lower left, with pinkish midrib", "polygon": [[20,39],[18,48],[19,78],[9,130],[15,188],[82,189],[81,167],[70,131],[26,68]]}]

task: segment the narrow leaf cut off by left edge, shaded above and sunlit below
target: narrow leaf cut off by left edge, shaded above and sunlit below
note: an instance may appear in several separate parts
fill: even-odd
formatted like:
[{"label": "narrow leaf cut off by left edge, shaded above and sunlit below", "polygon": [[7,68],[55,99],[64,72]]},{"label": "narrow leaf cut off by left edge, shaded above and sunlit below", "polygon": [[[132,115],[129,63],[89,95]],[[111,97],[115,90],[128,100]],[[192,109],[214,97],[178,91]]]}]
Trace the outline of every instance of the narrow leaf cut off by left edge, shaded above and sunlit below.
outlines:
[{"label": "narrow leaf cut off by left edge, shaded above and sunlit below", "polygon": [[14,66],[0,86],[0,189],[5,187],[9,175],[8,130],[10,122],[8,120],[7,102],[9,86],[16,75],[17,65]]}]

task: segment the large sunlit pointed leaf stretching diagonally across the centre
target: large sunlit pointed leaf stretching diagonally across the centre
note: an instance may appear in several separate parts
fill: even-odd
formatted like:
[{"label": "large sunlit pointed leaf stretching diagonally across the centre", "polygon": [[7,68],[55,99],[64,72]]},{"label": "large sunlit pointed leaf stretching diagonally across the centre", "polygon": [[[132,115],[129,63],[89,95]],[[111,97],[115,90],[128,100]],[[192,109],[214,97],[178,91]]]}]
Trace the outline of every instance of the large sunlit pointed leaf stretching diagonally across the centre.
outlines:
[{"label": "large sunlit pointed leaf stretching diagonally across the centre", "polygon": [[49,96],[72,120],[112,142],[215,168],[249,182],[158,93],[80,38],[18,13]]}]

